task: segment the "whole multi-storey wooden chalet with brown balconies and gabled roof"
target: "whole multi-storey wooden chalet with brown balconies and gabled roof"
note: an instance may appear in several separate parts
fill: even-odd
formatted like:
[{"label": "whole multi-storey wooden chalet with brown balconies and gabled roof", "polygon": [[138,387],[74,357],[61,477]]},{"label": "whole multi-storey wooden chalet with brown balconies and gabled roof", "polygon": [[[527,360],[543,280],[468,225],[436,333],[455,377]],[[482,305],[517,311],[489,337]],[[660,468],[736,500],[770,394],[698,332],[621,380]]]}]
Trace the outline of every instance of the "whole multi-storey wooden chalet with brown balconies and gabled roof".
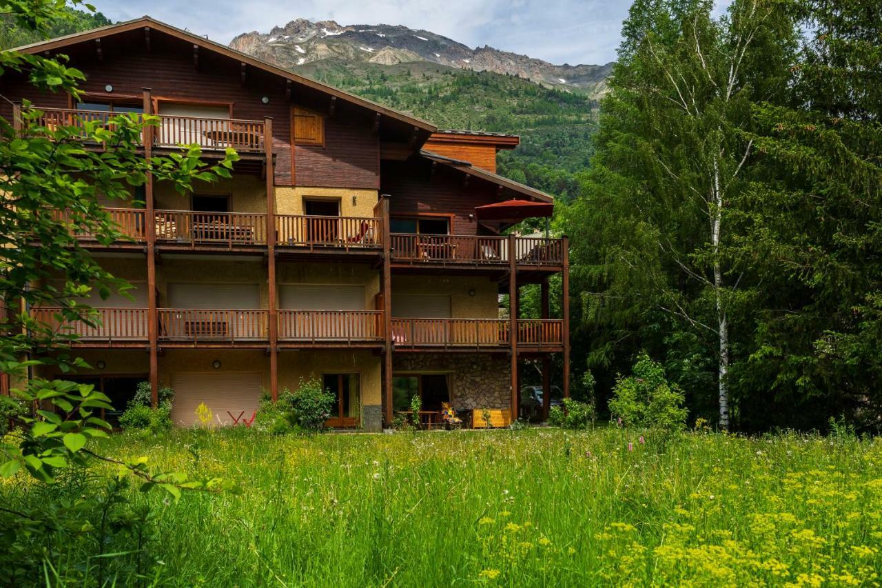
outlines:
[{"label": "whole multi-storey wooden chalet with brown balconies and gabled roof", "polygon": [[[439,131],[149,17],[19,50],[69,56],[86,94],[41,94],[6,73],[7,120],[22,108],[66,125],[145,112],[161,118],[145,157],[192,143],[209,159],[241,156],[231,179],[185,196],[151,180],[132,201],[103,202],[125,241],[78,235],[134,285],[133,299],[88,301],[100,326],[72,326],[92,366],[76,378],[116,405],[147,380],[154,399],[175,389],[177,423],[193,424],[202,402],[228,423],[262,390],[276,398],[315,375],[338,397],[329,426],[378,430],[414,394],[434,424],[442,402],[505,422],[518,413],[519,360],[541,359],[549,390],[553,353],[569,395],[567,239],[503,234],[553,207],[496,174],[517,137]],[[557,273],[564,310],[551,318]],[[528,283],[541,284],[539,316],[519,310]]]}]

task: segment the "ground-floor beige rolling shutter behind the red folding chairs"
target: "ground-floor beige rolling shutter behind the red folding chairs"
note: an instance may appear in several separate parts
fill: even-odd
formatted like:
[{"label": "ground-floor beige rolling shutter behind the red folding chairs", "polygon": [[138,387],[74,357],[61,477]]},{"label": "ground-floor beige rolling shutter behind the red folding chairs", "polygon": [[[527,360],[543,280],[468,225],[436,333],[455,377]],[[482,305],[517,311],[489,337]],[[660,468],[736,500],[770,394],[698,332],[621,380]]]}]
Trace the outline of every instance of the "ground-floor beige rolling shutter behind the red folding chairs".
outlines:
[{"label": "ground-floor beige rolling shutter behind the red folding chairs", "polygon": [[260,384],[259,373],[175,373],[171,379],[175,390],[172,422],[177,426],[198,426],[199,403],[206,403],[212,410],[215,426],[232,424],[227,411],[234,417],[244,411],[244,417],[251,418],[258,410]]}]

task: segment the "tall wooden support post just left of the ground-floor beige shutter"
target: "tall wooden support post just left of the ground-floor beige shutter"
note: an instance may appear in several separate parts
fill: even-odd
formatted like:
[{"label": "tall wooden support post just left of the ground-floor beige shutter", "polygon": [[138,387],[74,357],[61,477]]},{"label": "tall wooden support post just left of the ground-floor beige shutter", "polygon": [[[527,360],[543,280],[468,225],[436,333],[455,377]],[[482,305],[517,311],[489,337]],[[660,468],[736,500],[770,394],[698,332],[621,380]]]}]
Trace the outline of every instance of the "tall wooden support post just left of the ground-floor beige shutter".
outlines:
[{"label": "tall wooden support post just left of the ground-floor beige shutter", "polygon": [[[153,98],[150,88],[144,91],[144,113],[153,112]],[[144,127],[144,158],[149,162],[153,155],[153,131],[155,127]],[[153,174],[148,171],[144,183],[144,232],[147,237],[147,343],[150,353],[150,400],[153,406],[159,404],[160,367],[159,334],[156,319],[156,213],[153,202]]]}]

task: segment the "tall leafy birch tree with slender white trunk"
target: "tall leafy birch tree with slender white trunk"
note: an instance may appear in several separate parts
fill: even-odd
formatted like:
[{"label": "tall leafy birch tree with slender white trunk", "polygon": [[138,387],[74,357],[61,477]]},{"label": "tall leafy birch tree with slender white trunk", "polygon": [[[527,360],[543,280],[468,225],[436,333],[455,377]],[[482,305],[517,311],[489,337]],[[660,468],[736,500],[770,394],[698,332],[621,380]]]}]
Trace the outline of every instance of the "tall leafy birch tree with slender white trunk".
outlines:
[{"label": "tall leafy birch tree with slender white trunk", "polygon": [[[585,315],[610,340],[639,338],[647,314],[691,332],[716,366],[719,426],[730,423],[733,316],[758,286],[729,247],[752,162],[751,105],[781,101],[796,47],[782,4],[638,0],[602,103],[594,168],[567,212]],[[639,341],[632,341],[632,347]]]}]

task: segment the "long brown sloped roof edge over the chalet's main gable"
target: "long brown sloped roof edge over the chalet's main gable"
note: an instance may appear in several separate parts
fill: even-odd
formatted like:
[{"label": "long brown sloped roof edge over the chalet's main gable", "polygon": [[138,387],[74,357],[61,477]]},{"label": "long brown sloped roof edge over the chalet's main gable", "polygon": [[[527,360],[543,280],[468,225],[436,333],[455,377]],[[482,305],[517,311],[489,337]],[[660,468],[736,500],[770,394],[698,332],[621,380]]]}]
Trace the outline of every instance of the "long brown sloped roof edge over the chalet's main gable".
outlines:
[{"label": "long brown sloped roof edge over the chalet's main gable", "polygon": [[139,28],[143,27],[148,27],[153,30],[160,31],[161,33],[172,35],[174,37],[177,37],[178,39],[182,39],[183,41],[188,41],[193,43],[194,45],[198,45],[200,48],[215,51],[217,53],[220,53],[221,55],[230,57],[231,59],[235,59],[245,64],[257,67],[258,69],[264,70],[265,72],[273,73],[284,79],[290,79],[291,81],[294,81],[298,84],[303,84],[303,86],[316,89],[320,92],[324,92],[325,94],[337,96],[342,100],[352,102],[366,109],[373,110],[383,116],[392,117],[407,124],[413,124],[415,127],[418,127],[423,131],[437,132],[437,127],[434,124],[424,121],[422,120],[422,118],[417,118],[411,115],[404,114],[403,112],[399,112],[398,110],[390,109],[382,106],[381,104],[377,104],[377,102],[372,102],[360,96],[356,96],[355,94],[349,94],[348,92],[340,90],[339,88],[328,86],[327,84],[323,84],[314,79],[303,77],[294,72],[289,72],[288,70],[284,70],[276,65],[267,63],[262,59],[258,59],[257,57],[252,57],[240,51],[236,51],[235,49],[230,49],[226,45],[211,41],[209,39],[206,39],[205,37],[200,37],[197,34],[192,34],[189,31],[184,31],[183,29],[177,28],[176,26],[168,25],[167,23],[153,19],[149,16],[143,16],[139,19],[127,20],[125,22],[116,23],[116,25],[101,26],[99,28],[94,28],[89,31],[83,31],[81,33],[68,34],[63,37],[49,39],[49,41],[38,41],[10,50],[20,51],[23,53],[39,53],[41,51],[61,49],[83,41],[91,41],[93,39],[98,39],[110,34],[119,34],[125,33],[127,31],[138,30]]}]

